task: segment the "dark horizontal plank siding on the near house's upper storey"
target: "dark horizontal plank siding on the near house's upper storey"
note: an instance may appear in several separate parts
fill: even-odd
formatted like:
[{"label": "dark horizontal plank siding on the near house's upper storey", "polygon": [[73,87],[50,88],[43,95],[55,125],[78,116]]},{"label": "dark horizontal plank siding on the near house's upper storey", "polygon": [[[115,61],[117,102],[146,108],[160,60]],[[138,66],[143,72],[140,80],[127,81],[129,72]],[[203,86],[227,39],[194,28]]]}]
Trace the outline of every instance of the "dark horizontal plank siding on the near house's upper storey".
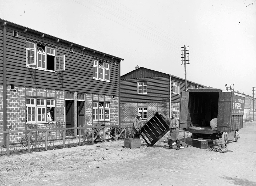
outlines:
[{"label": "dark horizontal plank siding on the near house's upper storey", "polygon": [[[13,31],[18,32],[18,37],[13,36]],[[21,29],[8,24],[6,37],[7,84],[44,88],[47,83],[47,88],[51,89],[119,95],[119,61],[116,59],[102,57],[101,54],[93,54],[89,50],[83,50],[83,55],[80,55],[81,48],[75,46],[71,47],[73,52],[70,52],[67,43],[56,43],[55,40],[41,38],[34,32],[24,33]],[[26,40],[56,48],[57,56],[65,55],[65,71],[52,72],[26,67]],[[3,43],[2,29],[0,43]],[[2,50],[0,45],[0,63]],[[93,58],[110,63],[110,82],[93,79]],[[114,60],[115,65],[111,63]],[[0,66],[1,71],[2,64]]]}]

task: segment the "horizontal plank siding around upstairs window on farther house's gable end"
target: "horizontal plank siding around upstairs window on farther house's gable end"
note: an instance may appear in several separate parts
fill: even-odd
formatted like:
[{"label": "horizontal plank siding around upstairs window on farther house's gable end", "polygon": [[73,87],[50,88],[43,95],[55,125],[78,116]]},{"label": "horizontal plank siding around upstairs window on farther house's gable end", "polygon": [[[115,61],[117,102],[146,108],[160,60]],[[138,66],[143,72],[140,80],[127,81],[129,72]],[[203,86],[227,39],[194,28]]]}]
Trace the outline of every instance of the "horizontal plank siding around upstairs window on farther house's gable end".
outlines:
[{"label": "horizontal plank siding around upstairs window on farther house's gable end", "polygon": [[[147,82],[147,94],[138,94],[138,82]],[[169,77],[121,79],[121,103],[169,101]]]}]

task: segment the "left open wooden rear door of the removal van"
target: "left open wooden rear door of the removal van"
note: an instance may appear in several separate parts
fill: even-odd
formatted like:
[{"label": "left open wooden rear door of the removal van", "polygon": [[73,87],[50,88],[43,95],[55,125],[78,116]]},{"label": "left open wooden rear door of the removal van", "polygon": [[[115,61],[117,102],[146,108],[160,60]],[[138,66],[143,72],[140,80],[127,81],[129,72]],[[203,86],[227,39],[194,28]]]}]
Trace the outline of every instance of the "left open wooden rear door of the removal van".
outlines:
[{"label": "left open wooden rear door of the removal van", "polygon": [[187,112],[189,107],[189,92],[181,92],[181,109],[179,116],[179,128],[188,128]]}]

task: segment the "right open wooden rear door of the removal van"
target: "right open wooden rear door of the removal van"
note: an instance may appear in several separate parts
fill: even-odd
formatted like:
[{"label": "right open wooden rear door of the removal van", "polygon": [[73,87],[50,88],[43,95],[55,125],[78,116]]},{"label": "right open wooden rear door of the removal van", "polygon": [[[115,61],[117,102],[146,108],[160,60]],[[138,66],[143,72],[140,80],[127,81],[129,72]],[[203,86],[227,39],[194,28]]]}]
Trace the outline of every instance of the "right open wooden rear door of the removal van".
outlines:
[{"label": "right open wooden rear door of the removal van", "polygon": [[219,92],[217,130],[230,132],[233,92]]}]

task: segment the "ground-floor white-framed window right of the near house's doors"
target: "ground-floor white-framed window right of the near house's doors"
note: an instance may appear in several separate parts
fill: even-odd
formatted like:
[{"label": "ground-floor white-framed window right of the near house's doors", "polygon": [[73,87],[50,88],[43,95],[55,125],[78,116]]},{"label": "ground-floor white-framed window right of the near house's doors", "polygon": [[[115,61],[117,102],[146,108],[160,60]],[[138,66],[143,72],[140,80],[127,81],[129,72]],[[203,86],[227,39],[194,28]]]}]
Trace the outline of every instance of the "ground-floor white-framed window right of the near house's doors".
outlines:
[{"label": "ground-floor white-framed window right of the near house's doors", "polygon": [[109,103],[93,102],[93,121],[109,121],[110,107]]}]

